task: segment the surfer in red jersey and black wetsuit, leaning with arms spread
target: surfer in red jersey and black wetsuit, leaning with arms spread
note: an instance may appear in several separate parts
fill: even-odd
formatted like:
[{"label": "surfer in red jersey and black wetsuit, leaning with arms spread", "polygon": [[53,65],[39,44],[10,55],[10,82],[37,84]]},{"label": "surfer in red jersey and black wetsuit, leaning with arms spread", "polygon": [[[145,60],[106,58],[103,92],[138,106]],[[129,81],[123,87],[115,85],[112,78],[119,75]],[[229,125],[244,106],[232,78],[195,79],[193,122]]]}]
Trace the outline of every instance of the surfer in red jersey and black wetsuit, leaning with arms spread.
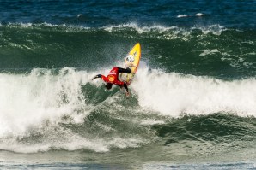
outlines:
[{"label": "surfer in red jersey and black wetsuit, leaning with arms spread", "polygon": [[131,73],[131,69],[129,67],[127,67],[126,69],[121,67],[113,67],[112,70],[110,70],[110,72],[108,73],[107,77],[98,74],[92,80],[97,78],[103,79],[103,81],[107,83],[105,85],[107,90],[110,90],[112,88],[112,85],[119,85],[121,89],[125,87],[125,95],[126,97],[129,97],[130,93],[128,87],[125,82],[119,80],[119,73]]}]

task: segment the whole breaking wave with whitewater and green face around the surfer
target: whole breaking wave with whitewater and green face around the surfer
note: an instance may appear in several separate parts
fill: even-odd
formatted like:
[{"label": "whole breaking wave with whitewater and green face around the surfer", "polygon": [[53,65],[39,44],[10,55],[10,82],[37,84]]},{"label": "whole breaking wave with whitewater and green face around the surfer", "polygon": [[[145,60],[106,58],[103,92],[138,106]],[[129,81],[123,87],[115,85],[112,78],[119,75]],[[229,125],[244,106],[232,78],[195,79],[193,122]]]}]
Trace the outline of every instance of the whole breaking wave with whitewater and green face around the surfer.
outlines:
[{"label": "whole breaking wave with whitewater and green face around the surfer", "polygon": [[150,126],[165,126],[168,119],[184,115],[256,116],[255,79],[224,81],[165,73],[144,64],[127,100],[118,88],[105,91],[100,79],[90,82],[107,71],[64,67],[1,73],[0,149],[107,152],[152,143],[156,136]]}]

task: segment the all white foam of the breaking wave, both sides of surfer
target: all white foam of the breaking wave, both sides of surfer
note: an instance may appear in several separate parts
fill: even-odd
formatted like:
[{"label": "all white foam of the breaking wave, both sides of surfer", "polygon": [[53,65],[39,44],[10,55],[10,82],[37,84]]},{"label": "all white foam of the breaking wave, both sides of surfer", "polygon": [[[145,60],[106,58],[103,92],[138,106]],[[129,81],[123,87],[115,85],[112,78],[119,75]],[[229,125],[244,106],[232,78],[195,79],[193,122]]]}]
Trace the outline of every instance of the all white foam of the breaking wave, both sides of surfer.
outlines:
[{"label": "all white foam of the breaking wave, both sides of surfer", "polygon": [[[65,67],[57,74],[49,69],[34,69],[28,74],[0,73],[0,149],[23,153],[51,148],[105,152],[111,147],[138,147],[149,142],[143,138],[120,138],[118,135],[113,138],[81,137],[59,126],[59,123],[83,123],[85,116],[95,108],[82,99],[81,85],[95,74],[107,74],[108,71],[102,69],[88,73]],[[101,84],[100,80],[93,83]],[[136,108],[140,107],[145,113],[153,111],[170,117],[218,112],[256,116],[256,79],[224,81],[165,73],[150,70],[142,61],[130,88],[137,96],[139,106]],[[120,98],[108,97],[101,107],[116,100]],[[62,120],[64,115],[70,122]],[[147,126],[164,122],[145,119],[137,120],[137,123]],[[113,132],[111,126],[98,126],[102,131]],[[43,141],[34,144],[20,141],[30,138],[31,129],[44,135]]]}]

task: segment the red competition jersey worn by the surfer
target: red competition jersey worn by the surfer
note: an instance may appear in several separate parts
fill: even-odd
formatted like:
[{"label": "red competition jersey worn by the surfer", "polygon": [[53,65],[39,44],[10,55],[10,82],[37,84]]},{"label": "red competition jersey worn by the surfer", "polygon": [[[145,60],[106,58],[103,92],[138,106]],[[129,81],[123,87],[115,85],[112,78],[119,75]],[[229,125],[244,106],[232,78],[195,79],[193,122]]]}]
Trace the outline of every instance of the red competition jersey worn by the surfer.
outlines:
[{"label": "red competition jersey worn by the surfer", "polygon": [[112,70],[108,73],[107,77],[104,75],[101,75],[101,79],[107,83],[112,83],[114,85],[123,86],[125,83],[122,81],[119,81],[119,68],[113,67]]}]

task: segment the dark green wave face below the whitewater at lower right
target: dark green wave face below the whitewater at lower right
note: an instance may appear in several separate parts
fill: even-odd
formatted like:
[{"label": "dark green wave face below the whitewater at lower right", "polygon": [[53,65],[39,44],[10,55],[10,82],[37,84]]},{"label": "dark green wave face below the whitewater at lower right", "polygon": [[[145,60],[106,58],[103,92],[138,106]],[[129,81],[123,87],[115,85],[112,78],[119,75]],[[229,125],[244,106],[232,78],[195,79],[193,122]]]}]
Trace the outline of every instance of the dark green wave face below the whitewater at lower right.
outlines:
[{"label": "dark green wave face below the whitewater at lower right", "polygon": [[198,141],[202,143],[227,143],[239,147],[253,140],[255,119],[245,119],[225,114],[205,116],[185,116],[166,125],[155,125],[157,134],[166,140],[165,145],[180,141]]}]

